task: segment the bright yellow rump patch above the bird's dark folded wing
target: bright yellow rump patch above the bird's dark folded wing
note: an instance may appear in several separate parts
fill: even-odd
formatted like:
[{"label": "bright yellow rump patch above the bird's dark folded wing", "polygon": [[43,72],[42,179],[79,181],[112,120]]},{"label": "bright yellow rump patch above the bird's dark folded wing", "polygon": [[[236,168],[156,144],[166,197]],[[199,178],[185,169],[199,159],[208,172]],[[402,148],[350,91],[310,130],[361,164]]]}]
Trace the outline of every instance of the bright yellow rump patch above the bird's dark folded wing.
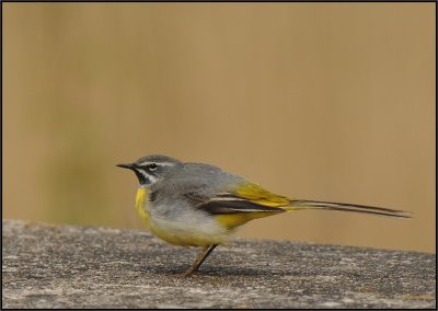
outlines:
[{"label": "bright yellow rump patch above the bird's dark folded wing", "polygon": [[[253,203],[261,204],[264,206],[272,206],[272,207],[287,206],[290,201],[290,198],[270,193],[257,184],[244,184],[244,185],[238,187],[235,194],[238,196],[240,196],[242,198],[246,198]],[[264,217],[264,216],[261,216],[261,217]]]}]

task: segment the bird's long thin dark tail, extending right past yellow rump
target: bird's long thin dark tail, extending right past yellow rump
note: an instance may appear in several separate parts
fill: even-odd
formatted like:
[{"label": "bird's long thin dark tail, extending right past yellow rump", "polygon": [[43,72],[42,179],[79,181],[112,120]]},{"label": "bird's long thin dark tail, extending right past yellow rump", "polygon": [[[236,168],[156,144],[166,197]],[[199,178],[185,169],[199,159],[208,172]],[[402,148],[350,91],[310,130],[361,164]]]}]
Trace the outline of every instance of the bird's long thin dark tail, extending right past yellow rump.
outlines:
[{"label": "bird's long thin dark tail, extending right past yellow rump", "polygon": [[411,218],[412,215],[408,211],[396,210],[390,208],[357,205],[357,204],[345,204],[345,203],[333,203],[333,201],[320,201],[320,200],[306,200],[306,199],[293,199],[286,207],[287,210],[299,210],[299,209],[328,209],[328,210],[342,210],[342,211],[354,211],[397,218]]}]

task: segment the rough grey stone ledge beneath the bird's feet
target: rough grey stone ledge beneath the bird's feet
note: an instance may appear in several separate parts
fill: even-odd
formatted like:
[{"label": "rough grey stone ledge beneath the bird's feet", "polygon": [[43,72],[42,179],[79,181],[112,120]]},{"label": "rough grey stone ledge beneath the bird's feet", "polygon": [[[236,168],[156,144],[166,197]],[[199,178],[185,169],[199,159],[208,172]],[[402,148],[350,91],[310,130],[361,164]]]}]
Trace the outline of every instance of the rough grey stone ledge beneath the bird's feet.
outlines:
[{"label": "rough grey stone ledge beneath the bird's feet", "polygon": [[435,254],[235,239],[197,249],[132,230],[5,220],[3,308],[436,308]]}]

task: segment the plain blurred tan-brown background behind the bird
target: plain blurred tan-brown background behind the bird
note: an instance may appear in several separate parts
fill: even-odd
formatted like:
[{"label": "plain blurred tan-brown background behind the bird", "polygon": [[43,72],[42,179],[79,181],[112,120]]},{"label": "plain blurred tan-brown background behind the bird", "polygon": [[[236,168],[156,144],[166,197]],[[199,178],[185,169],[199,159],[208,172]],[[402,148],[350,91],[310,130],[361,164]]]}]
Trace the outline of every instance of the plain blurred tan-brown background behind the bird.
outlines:
[{"label": "plain blurred tan-brown background behind the bird", "polygon": [[299,198],[240,235],[435,252],[435,3],[3,3],[3,217],[141,228],[145,154]]}]

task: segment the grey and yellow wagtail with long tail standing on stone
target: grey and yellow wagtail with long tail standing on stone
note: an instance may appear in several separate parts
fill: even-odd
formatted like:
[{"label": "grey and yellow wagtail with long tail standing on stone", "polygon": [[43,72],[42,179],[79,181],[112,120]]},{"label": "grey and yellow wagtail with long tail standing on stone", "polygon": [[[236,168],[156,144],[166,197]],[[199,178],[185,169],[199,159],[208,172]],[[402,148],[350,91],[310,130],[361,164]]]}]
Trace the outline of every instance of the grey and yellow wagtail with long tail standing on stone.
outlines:
[{"label": "grey and yellow wagtail with long tail standing on stone", "polygon": [[154,235],[174,245],[203,247],[184,277],[193,276],[239,227],[257,218],[303,209],[411,218],[390,208],[290,198],[218,166],[162,154],[116,166],[136,174],[136,208]]}]

